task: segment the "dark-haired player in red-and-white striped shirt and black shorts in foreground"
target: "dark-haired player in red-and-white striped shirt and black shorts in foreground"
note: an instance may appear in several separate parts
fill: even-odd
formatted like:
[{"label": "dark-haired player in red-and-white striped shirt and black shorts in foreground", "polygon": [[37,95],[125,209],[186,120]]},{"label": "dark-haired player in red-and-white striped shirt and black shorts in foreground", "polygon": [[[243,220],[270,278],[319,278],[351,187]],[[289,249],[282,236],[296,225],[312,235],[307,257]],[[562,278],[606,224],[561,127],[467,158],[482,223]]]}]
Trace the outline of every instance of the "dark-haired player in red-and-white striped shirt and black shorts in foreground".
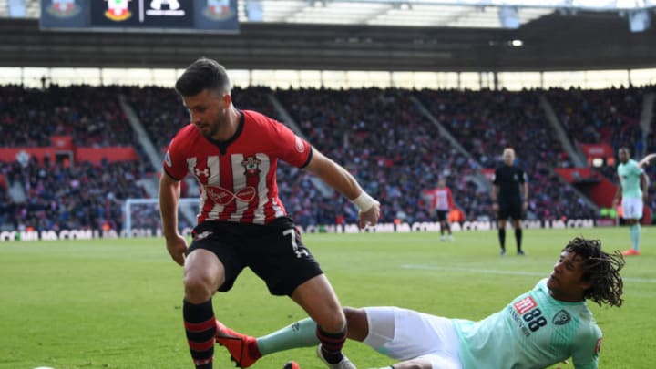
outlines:
[{"label": "dark-haired player in red-and-white striped shirt and black shorts in foreground", "polygon": [[[235,108],[228,74],[215,60],[192,63],[176,90],[190,124],[165,155],[159,207],[169,254],[184,266],[182,315],[196,368],[212,367],[215,342],[235,343],[215,318],[212,296],[228,292],[246,267],[269,292],[290,296],[314,319],[318,354],[329,368],[354,368],[342,354],[347,334],[342,306],[278,197],[278,160],[308,170],[352,200],[361,228],[376,224],[379,202],[282,123]],[[180,180],[187,174],[200,188],[198,226],[189,247],[178,230]],[[241,367],[252,360],[241,354],[232,359]]]}]

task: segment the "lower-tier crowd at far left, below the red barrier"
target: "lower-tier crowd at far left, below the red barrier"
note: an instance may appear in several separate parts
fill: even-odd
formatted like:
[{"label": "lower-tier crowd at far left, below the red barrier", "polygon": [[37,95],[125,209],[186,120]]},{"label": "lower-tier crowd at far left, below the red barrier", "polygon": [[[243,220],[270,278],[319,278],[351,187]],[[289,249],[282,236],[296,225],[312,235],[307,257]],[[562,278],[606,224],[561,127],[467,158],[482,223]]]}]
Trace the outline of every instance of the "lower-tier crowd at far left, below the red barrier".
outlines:
[{"label": "lower-tier crowd at far left, below the red barrier", "polygon": [[119,230],[123,200],[147,196],[139,179],[148,172],[140,161],[66,166],[33,158],[26,165],[0,163],[0,172],[26,191],[26,201],[3,201],[0,219],[13,230]]}]

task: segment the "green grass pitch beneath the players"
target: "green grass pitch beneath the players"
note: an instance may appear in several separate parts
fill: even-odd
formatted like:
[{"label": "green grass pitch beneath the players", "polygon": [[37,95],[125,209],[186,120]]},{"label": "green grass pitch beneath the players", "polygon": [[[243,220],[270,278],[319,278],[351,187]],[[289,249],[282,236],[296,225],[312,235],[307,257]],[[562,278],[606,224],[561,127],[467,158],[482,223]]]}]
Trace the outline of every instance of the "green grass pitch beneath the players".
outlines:
[{"label": "green grass pitch beneath the players", "polygon": [[[604,332],[601,368],[656,362],[655,232],[643,228],[643,253],[627,261],[624,306],[590,303]],[[629,241],[626,228],[527,230],[523,258],[511,252],[512,237],[507,256],[499,257],[494,231],[458,232],[454,242],[439,242],[431,232],[307,234],[303,241],[344,305],[400,305],[479,319],[548,276],[562,246],[577,235],[600,238],[606,250],[623,250]],[[192,367],[181,272],[159,239],[0,243],[0,368]],[[214,298],[214,309],[218,319],[253,335],[304,317],[249,271]],[[345,352],[362,368],[392,363],[361,343],[347,343]],[[226,353],[217,346],[216,368],[231,367]],[[281,368],[292,359],[303,369],[321,367],[305,348],[264,357],[253,368]]]}]

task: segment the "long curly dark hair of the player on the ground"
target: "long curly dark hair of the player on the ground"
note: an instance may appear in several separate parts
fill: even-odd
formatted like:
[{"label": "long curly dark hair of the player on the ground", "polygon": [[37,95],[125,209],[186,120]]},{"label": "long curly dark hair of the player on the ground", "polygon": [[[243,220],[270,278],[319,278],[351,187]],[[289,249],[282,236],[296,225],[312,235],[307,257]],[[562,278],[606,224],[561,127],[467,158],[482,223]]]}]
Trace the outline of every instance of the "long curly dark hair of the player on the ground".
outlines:
[{"label": "long curly dark hair of the player on the ground", "polygon": [[606,253],[601,251],[600,240],[587,240],[577,237],[569,241],[563,251],[574,252],[582,261],[583,280],[590,282],[585,298],[610,306],[622,304],[622,282],[620,270],[624,267],[624,257],[620,251]]}]

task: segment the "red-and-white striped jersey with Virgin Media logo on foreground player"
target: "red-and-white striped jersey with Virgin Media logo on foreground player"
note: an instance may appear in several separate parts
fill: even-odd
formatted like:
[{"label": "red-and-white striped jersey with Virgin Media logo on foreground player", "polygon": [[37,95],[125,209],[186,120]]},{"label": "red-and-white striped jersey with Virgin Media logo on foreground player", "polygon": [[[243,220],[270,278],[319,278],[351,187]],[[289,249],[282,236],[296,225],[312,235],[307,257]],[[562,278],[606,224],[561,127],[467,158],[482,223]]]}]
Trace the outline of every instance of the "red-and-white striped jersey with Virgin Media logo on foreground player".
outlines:
[{"label": "red-and-white striped jersey with Virgin Media logo on foreground player", "polygon": [[262,114],[241,110],[239,127],[226,142],[212,142],[193,124],[179,130],[164,158],[173,179],[187,173],[199,183],[204,220],[266,224],[287,214],[278,197],[278,159],[298,168],[312,159],[312,147],[290,128]]}]

